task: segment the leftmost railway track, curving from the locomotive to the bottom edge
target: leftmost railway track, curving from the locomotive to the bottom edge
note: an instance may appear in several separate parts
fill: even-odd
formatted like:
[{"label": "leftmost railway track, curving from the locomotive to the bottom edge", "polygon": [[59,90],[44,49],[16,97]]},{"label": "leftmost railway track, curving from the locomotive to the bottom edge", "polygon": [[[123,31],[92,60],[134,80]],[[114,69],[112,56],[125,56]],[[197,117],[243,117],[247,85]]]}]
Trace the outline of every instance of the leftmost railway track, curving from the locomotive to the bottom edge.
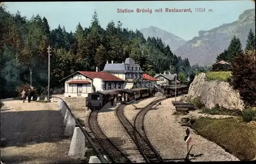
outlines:
[{"label": "leftmost railway track, curving from the locomotive to the bottom edge", "polygon": [[111,142],[108,137],[106,137],[100,129],[97,118],[98,110],[93,110],[89,116],[89,127],[101,147],[109,154],[113,162],[132,163],[132,161],[113,142]]}]

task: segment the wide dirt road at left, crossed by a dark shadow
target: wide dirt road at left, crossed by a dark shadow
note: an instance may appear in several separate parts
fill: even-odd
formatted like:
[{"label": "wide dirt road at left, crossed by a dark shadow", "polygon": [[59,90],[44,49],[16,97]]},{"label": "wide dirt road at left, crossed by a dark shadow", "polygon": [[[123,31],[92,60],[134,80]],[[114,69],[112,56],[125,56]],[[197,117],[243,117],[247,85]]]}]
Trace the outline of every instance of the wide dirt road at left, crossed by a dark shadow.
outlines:
[{"label": "wide dirt road at left, crossed by a dark shadow", "polygon": [[78,163],[68,157],[70,138],[64,138],[57,103],[13,100],[1,108],[2,161],[5,163]]}]

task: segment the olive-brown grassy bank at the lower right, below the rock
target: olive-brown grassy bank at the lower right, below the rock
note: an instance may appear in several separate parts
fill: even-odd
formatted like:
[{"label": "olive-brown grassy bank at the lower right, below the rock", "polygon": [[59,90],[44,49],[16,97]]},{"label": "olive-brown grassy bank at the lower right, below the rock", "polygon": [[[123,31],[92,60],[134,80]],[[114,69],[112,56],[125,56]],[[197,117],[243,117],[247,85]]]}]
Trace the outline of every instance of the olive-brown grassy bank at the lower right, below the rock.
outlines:
[{"label": "olive-brown grassy bank at the lower right, below the rock", "polygon": [[251,160],[255,157],[256,122],[245,123],[241,117],[200,118],[191,125],[191,128],[240,160]]}]

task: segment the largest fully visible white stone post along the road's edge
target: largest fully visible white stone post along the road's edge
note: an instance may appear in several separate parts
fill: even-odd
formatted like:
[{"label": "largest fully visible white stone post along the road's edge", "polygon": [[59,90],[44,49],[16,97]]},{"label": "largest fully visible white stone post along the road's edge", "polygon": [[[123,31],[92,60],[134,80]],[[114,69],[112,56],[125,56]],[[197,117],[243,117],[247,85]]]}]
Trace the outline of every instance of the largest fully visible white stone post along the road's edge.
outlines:
[{"label": "largest fully visible white stone post along the road's edge", "polygon": [[83,157],[85,153],[86,137],[84,136],[79,127],[75,127],[68,155],[75,157]]}]

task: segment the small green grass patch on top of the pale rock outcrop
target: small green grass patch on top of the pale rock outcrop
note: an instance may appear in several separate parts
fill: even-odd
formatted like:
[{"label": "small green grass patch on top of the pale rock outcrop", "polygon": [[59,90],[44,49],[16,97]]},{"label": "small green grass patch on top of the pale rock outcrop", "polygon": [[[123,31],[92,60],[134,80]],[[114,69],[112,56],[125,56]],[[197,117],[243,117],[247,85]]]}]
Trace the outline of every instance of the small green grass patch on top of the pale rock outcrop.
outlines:
[{"label": "small green grass patch on top of the pale rock outcrop", "polygon": [[219,80],[227,82],[231,78],[231,72],[206,72],[206,80]]}]

